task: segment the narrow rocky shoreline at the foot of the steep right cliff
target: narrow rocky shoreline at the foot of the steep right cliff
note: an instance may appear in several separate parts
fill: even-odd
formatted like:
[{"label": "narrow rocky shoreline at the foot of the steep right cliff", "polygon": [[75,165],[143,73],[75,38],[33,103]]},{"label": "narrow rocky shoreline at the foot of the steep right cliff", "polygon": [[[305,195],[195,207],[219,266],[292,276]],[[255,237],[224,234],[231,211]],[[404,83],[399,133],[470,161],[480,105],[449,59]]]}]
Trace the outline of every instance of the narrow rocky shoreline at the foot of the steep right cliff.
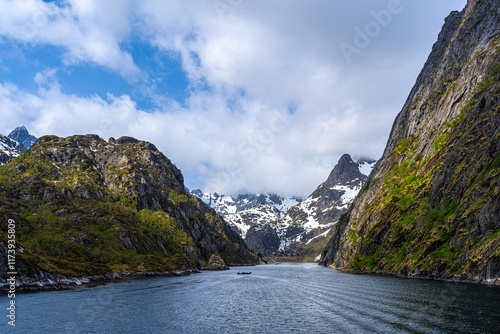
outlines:
[{"label": "narrow rocky shoreline at the foot of the steep right cliff", "polygon": [[467,283],[467,284],[483,284],[486,286],[495,286],[500,287],[500,278],[486,280],[484,278],[477,277],[476,279],[471,278],[460,278],[458,276],[446,276],[446,275],[419,275],[419,274],[402,274],[400,272],[391,272],[391,271],[374,271],[374,270],[355,270],[355,269],[347,269],[347,268],[336,268],[333,265],[325,266],[330,269],[338,270],[346,274],[354,274],[354,275],[373,275],[373,276],[387,276],[387,277],[399,277],[399,278],[408,278],[408,279],[425,279],[432,281],[442,281],[442,282],[454,282],[454,283]]}]

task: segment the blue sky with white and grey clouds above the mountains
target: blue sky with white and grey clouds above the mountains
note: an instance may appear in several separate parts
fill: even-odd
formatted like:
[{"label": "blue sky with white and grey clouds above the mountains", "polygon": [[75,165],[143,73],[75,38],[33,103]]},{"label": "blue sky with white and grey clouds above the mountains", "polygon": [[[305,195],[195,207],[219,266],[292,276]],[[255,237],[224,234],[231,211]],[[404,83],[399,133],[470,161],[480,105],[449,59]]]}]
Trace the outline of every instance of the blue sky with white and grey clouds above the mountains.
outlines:
[{"label": "blue sky with white and grey clouds above the mountains", "polygon": [[378,159],[466,0],[0,0],[0,133],[132,136],[186,186],[307,197]]}]

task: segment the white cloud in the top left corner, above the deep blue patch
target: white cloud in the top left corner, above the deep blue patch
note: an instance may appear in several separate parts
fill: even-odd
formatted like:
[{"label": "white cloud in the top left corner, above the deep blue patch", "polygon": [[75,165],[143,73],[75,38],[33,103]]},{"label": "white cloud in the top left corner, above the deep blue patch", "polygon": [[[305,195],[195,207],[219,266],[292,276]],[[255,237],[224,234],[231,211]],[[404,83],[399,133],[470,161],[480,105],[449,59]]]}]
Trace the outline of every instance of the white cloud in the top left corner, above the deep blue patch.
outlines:
[{"label": "white cloud in the top left corner, above the deep blue patch", "polygon": [[0,1],[0,35],[66,50],[65,63],[95,63],[134,79],[141,75],[120,43],[130,35],[130,1]]}]

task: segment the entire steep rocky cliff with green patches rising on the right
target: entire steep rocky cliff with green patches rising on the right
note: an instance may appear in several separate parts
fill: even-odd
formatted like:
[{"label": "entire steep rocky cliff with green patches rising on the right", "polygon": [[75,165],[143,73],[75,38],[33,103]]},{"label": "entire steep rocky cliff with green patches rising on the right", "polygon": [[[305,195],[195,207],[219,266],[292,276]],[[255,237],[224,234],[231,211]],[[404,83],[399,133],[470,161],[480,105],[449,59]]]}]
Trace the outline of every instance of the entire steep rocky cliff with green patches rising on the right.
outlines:
[{"label": "entire steep rocky cliff with green patches rising on the right", "polygon": [[499,282],[500,3],[445,21],[321,264]]}]

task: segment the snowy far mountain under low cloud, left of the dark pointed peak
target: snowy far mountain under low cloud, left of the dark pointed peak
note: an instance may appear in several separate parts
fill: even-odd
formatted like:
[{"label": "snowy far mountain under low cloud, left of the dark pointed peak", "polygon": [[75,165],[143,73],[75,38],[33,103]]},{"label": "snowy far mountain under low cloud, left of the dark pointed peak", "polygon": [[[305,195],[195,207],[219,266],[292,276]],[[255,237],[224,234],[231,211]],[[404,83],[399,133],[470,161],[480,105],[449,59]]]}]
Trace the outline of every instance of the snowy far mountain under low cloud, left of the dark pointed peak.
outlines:
[{"label": "snowy far mountain under low cloud, left of the dark pointed peak", "polygon": [[300,197],[282,197],[274,194],[219,195],[193,190],[193,195],[201,198],[237,231],[243,238],[252,226],[276,222],[288,209],[300,203]]}]

